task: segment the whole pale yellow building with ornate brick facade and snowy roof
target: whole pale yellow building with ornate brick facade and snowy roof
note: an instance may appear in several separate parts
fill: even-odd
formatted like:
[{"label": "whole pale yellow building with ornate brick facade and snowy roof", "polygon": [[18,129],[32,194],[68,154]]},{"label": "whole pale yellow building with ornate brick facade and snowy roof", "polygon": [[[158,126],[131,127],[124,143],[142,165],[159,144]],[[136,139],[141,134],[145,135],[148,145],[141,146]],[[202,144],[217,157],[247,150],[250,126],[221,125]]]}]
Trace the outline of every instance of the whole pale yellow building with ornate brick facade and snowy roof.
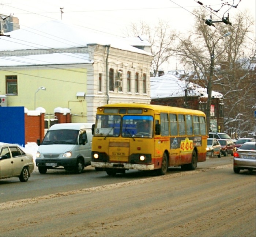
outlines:
[{"label": "whole pale yellow building with ornate brick facade and snowy roof", "polygon": [[150,103],[148,42],[57,20],[8,34],[0,36],[0,98],[6,96],[6,106],[43,107],[46,115],[68,108],[72,122],[94,122],[103,104]]}]

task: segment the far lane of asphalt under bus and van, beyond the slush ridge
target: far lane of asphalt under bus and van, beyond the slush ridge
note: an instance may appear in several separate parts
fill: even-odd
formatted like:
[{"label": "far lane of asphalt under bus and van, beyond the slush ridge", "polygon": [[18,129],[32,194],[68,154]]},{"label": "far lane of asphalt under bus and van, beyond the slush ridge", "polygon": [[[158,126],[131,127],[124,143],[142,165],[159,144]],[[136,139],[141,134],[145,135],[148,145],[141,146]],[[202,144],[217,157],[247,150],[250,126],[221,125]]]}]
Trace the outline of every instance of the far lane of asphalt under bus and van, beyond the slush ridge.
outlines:
[{"label": "far lane of asphalt under bus and van, beyond the slush ridge", "polygon": [[[205,162],[197,163],[197,170],[232,164],[232,162],[233,156],[221,158],[207,157]],[[184,171],[181,171],[179,167],[170,167],[168,174],[179,172]],[[117,174],[116,177],[110,177],[105,171],[95,171],[91,166],[86,167],[81,174],[75,174],[74,172],[67,172],[64,169],[60,169],[48,170],[45,175],[42,175],[38,172],[37,167],[35,167],[26,183],[21,183],[18,178],[0,179],[0,203],[82,188],[146,179],[151,176],[152,174],[150,172],[129,170],[125,175]]]}]

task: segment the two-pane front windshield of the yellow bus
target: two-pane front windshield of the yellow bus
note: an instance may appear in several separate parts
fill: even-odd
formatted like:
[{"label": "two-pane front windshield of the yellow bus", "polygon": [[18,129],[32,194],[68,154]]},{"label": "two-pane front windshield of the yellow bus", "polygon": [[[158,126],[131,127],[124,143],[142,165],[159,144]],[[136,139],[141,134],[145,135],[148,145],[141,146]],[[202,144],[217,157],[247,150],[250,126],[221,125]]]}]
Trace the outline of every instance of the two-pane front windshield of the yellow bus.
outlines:
[{"label": "two-pane front windshield of the yellow bus", "polygon": [[[122,120],[121,120],[122,119]],[[122,124],[122,125],[121,125]],[[97,115],[95,136],[102,137],[153,137],[153,116]]]}]

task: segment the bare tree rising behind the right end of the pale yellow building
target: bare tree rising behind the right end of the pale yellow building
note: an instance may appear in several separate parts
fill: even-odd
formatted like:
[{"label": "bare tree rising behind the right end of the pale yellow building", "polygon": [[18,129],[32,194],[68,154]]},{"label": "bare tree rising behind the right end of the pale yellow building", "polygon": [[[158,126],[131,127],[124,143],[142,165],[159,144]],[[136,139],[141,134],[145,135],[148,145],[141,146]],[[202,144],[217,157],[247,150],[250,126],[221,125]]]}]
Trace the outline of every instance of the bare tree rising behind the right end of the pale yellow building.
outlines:
[{"label": "bare tree rising behind the right end of the pale yellow building", "polygon": [[154,28],[147,23],[132,23],[127,30],[128,37],[138,37],[145,35],[151,45],[151,54],[153,54],[152,69],[154,76],[158,73],[163,63],[169,62],[170,57],[176,50],[176,32],[170,30],[168,23],[159,20]]}]

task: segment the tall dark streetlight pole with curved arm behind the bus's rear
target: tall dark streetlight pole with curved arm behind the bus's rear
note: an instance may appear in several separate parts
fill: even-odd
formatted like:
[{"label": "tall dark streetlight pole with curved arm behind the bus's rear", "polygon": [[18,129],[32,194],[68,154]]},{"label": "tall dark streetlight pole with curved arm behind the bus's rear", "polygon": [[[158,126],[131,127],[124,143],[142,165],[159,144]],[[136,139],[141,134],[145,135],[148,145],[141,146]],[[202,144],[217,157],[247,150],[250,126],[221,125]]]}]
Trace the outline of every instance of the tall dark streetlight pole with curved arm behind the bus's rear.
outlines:
[{"label": "tall dark streetlight pole with curved arm behind the bus's rear", "polygon": [[206,108],[206,119],[207,119],[207,134],[209,134],[210,130],[210,118],[211,118],[211,92],[212,92],[212,77],[213,77],[213,72],[214,72],[214,49],[215,45],[218,43],[218,41],[226,36],[231,35],[231,32],[227,32],[226,34],[222,35],[214,44],[213,44],[213,49],[212,49],[212,54],[211,54],[211,65],[210,65],[210,76],[209,76],[209,81],[208,81],[208,98],[207,98],[207,108]]}]

